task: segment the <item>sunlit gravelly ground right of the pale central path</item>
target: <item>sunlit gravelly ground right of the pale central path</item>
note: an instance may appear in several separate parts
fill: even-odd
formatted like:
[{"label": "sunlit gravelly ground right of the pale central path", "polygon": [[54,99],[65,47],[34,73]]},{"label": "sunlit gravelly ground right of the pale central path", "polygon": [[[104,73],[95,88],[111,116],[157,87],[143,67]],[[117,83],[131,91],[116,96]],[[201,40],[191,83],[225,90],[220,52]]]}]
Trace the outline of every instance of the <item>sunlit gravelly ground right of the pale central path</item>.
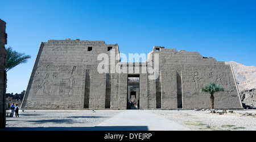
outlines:
[{"label": "sunlit gravelly ground right of the pale central path", "polygon": [[[218,111],[222,112],[222,110]],[[256,130],[256,110],[233,110],[233,113],[222,115],[210,113],[210,111],[193,110],[154,110],[152,112],[195,131]]]}]

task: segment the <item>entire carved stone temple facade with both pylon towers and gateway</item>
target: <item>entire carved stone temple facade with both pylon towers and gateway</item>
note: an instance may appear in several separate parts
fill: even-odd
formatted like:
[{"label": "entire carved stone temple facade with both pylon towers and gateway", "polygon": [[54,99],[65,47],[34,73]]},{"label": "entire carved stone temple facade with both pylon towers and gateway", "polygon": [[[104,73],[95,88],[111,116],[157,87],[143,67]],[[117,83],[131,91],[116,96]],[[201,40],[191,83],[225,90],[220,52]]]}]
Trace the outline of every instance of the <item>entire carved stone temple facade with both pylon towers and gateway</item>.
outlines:
[{"label": "entire carved stone temple facade with both pylon towers and gateway", "polygon": [[232,66],[224,62],[159,46],[146,62],[125,58],[118,44],[105,41],[42,42],[22,108],[125,110],[131,101],[141,110],[210,108],[210,94],[200,92],[210,82],[225,89],[214,94],[215,108],[242,108]]}]

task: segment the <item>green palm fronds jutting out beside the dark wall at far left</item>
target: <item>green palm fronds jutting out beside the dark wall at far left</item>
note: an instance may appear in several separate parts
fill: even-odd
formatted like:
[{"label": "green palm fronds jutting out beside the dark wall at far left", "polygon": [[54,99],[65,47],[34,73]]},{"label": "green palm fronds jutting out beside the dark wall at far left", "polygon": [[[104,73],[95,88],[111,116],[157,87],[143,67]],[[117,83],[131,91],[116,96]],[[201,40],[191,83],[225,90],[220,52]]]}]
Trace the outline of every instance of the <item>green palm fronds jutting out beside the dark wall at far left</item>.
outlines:
[{"label": "green palm fronds jutting out beside the dark wall at far left", "polygon": [[16,65],[26,63],[27,59],[31,58],[30,55],[25,55],[24,53],[13,51],[11,47],[5,49],[7,51],[7,61],[5,66],[6,72],[8,72],[10,69],[13,69]]}]

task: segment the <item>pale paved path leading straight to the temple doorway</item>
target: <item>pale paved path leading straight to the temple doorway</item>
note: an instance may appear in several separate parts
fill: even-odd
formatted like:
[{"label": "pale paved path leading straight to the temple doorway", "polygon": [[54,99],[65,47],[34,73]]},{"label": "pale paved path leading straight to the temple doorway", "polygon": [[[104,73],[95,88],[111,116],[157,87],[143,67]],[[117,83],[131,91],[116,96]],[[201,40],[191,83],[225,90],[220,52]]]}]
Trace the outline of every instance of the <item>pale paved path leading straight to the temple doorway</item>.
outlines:
[{"label": "pale paved path leading straight to the temple doorway", "polygon": [[190,131],[189,128],[148,110],[125,110],[97,126],[112,126],[118,127],[114,130],[127,131]]}]

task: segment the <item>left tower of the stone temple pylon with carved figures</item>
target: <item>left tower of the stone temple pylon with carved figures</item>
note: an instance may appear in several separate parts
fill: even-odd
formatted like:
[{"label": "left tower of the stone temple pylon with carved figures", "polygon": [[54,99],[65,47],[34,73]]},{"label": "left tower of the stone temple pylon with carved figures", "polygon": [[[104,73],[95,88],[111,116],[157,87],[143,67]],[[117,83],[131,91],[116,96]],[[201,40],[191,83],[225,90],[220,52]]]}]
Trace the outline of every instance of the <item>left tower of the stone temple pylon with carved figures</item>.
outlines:
[{"label": "left tower of the stone temple pylon with carved figures", "polygon": [[[48,40],[40,45],[23,108],[105,108],[105,73],[97,72],[100,53],[118,45],[104,41]],[[110,56],[110,55],[109,55]],[[109,81],[108,81],[109,82]]]}]

